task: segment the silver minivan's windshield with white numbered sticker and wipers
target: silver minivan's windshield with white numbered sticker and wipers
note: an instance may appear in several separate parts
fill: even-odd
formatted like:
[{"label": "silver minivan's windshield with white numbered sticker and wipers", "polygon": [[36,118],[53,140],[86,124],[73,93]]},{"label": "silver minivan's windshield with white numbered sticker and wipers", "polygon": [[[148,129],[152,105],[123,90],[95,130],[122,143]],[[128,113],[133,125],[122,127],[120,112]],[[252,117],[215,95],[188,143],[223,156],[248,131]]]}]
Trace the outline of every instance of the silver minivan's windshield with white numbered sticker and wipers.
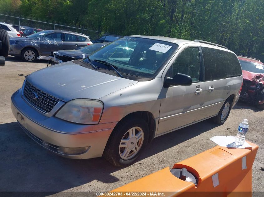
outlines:
[{"label": "silver minivan's windshield with white numbered sticker and wipers", "polygon": [[[153,78],[177,48],[178,45],[171,42],[123,37],[94,52],[89,59],[99,68],[103,67],[102,61],[111,63],[125,78],[129,78],[126,75]],[[89,63],[88,59],[83,61]]]}]

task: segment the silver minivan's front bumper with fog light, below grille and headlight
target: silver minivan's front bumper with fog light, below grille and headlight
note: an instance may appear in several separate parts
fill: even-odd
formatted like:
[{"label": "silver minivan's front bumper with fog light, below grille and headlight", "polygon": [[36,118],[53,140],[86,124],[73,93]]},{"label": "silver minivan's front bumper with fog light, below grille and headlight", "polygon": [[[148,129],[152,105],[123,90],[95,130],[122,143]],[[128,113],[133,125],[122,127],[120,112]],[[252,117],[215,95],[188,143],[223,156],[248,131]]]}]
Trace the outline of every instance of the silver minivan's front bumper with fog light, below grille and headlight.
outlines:
[{"label": "silver minivan's front bumper with fog light, below grille and headlight", "polygon": [[[11,108],[21,128],[34,141],[60,156],[72,159],[101,157],[107,140],[117,124],[114,122],[83,125],[60,120],[54,116],[47,117],[22,98],[21,89],[12,95]],[[65,153],[68,150],[74,152],[78,148],[84,151]]]}]

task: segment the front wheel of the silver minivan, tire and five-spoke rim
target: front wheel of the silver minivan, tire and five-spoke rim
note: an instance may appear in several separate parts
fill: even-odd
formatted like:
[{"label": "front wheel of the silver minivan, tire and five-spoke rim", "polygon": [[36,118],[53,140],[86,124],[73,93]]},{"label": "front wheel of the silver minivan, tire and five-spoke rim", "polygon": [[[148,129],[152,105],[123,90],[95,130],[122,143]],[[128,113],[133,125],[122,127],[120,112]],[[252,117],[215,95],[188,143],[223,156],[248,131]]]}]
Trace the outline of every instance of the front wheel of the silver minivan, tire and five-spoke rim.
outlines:
[{"label": "front wheel of the silver minivan, tire and five-spoke rim", "polygon": [[136,117],[125,118],[112,131],[103,157],[117,167],[130,165],[146,148],[148,137],[146,121]]}]

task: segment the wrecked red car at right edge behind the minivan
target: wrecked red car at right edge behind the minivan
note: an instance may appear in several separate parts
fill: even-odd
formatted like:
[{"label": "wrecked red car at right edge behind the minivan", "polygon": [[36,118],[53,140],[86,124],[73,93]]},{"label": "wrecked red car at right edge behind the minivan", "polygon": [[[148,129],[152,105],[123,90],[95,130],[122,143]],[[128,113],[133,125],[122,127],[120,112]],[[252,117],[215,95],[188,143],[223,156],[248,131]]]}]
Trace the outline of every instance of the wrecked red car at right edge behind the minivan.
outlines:
[{"label": "wrecked red car at right edge behind the minivan", "polygon": [[264,64],[247,56],[237,56],[242,67],[243,86],[240,100],[264,110]]}]

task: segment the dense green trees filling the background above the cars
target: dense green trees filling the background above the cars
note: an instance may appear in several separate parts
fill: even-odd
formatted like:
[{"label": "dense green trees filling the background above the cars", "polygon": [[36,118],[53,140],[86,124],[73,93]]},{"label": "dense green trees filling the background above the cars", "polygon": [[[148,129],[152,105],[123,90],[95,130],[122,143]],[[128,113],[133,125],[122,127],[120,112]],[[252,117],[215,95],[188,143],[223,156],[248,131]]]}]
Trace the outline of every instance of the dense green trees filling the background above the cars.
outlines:
[{"label": "dense green trees filling the background above the cars", "polygon": [[0,12],[118,35],[207,40],[264,61],[264,0],[1,0]]}]

